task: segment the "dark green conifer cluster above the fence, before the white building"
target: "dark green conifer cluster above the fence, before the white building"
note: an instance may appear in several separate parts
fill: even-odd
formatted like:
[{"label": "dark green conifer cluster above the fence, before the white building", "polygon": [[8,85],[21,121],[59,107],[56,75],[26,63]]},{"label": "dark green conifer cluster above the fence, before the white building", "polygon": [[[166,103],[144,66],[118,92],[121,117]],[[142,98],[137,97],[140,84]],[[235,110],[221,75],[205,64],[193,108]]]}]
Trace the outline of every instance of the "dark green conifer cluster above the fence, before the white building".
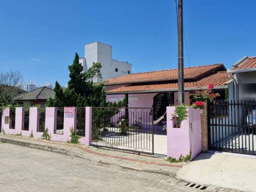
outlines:
[{"label": "dark green conifer cluster above the fence, before the white building", "polygon": [[98,80],[102,78],[100,63],[93,63],[92,67],[83,73],[83,66],[79,63],[79,56],[76,53],[73,64],[68,66],[68,69],[70,70],[68,87],[63,90],[60,84],[56,82],[54,98],[50,98],[46,106],[125,106],[126,99],[118,104],[106,102],[104,84],[93,82],[96,78]]}]

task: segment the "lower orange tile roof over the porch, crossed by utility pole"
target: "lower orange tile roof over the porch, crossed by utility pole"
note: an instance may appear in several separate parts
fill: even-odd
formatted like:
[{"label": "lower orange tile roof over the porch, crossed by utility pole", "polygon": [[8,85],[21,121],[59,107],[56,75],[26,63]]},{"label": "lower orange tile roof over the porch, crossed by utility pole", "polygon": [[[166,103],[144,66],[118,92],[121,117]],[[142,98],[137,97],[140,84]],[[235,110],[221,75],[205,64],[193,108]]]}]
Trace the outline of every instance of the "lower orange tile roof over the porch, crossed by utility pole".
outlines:
[{"label": "lower orange tile roof over the porch, crossed by utility pole", "polygon": [[[226,71],[216,72],[214,74],[208,74],[199,80],[193,80],[184,83],[184,88],[198,90],[202,88],[207,88],[210,83],[213,83],[215,87],[224,86],[229,80]],[[158,83],[158,84],[138,84],[138,85],[128,85],[122,86],[113,90],[109,90],[107,93],[118,93],[118,92],[140,92],[140,91],[157,91],[157,90],[177,90],[178,83]]]}]

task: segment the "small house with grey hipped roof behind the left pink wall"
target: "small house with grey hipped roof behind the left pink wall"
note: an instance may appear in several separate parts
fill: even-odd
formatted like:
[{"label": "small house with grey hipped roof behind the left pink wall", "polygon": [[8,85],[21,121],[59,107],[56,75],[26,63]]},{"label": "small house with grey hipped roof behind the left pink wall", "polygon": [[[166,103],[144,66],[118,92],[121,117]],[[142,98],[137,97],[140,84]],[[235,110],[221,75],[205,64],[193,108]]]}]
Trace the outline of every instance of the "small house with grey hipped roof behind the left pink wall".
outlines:
[{"label": "small house with grey hipped roof behind the left pink wall", "polygon": [[40,105],[41,107],[45,106],[45,102],[50,97],[53,97],[54,90],[43,86],[35,90],[26,92],[18,96],[18,102],[27,107],[32,107],[34,105]]}]

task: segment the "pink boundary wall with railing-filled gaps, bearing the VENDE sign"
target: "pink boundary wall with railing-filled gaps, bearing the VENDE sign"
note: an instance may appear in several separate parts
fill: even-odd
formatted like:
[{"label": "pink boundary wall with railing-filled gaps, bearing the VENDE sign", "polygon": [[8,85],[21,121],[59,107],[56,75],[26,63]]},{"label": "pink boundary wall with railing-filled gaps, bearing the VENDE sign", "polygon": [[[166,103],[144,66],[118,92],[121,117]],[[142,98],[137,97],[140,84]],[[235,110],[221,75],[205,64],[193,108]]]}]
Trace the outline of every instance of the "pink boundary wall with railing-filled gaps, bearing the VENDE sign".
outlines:
[{"label": "pink boundary wall with railing-filled gaps, bearing the VENDE sign", "polygon": [[[76,110],[75,110],[76,112]],[[85,109],[85,137],[80,139],[81,144],[91,145],[92,142],[92,107],[86,107]],[[31,107],[29,110],[29,130],[22,130],[23,126],[23,109],[21,107],[16,108],[16,117],[15,117],[15,129],[10,129],[9,124],[4,123],[5,116],[9,116],[10,109],[6,108],[2,113],[2,130],[4,130],[5,134],[22,134],[22,136],[30,136],[31,132],[33,132],[34,138],[41,138],[42,132],[37,132],[38,127],[38,108]],[[55,108],[54,107],[46,107],[45,114],[45,128],[48,128],[49,134],[51,134],[51,140],[66,142],[70,140],[70,127],[75,127],[75,118],[73,117],[65,117],[64,116],[64,130],[63,134],[54,134],[54,126],[55,126]],[[3,134],[3,131],[2,131]]]}]

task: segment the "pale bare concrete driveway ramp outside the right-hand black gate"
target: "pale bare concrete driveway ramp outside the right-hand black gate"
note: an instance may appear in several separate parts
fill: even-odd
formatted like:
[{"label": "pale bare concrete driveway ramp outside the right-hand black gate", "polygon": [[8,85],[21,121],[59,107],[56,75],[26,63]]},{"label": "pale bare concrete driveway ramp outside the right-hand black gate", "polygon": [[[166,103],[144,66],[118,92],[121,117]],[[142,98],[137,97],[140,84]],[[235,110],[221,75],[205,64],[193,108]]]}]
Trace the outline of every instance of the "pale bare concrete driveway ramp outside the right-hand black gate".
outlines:
[{"label": "pale bare concrete driveway ramp outside the right-hand black gate", "polygon": [[177,177],[200,184],[256,192],[256,156],[211,153],[200,154],[184,166]]}]

